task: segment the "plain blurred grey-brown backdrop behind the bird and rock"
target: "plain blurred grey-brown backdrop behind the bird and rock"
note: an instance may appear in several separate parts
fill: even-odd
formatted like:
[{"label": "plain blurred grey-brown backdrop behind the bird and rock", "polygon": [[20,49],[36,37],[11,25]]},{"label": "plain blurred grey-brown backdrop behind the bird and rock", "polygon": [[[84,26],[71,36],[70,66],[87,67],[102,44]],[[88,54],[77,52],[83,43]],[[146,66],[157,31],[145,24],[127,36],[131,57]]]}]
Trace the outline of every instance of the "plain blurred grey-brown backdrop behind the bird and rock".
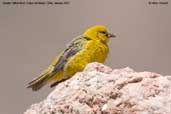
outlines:
[{"label": "plain blurred grey-brown backdrop behind the bird and rock", "polygon": [[[62,0],[61,0],[62,1]],[[69,0],[68,0],[69,1]],[[65,45],[87,28],[105,25],[111,39],[106,65],[171,75],[171,3],[73,0],[66,5],[0,4],[0,113],[22,114],[53,90],[26,89]],[[170,1],[169,1],[170,2]]]}]

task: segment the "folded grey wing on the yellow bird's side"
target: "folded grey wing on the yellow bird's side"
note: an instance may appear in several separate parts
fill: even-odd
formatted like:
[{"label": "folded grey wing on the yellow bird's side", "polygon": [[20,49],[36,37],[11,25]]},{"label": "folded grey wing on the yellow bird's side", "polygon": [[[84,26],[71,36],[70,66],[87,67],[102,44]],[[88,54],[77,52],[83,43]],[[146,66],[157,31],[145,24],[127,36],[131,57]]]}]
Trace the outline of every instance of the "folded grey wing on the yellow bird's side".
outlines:
[{"label": "folded grey wing on the yellow bird's side", "polygon": [[76,39],[72,40],[67,46],[66,49],[61,54],[59,60],[54,64],[53,72],[58,72],[63,69],[68,59],[78,53],[82,48],[84,43],[89,40],[84,36],[79,36]]}]

